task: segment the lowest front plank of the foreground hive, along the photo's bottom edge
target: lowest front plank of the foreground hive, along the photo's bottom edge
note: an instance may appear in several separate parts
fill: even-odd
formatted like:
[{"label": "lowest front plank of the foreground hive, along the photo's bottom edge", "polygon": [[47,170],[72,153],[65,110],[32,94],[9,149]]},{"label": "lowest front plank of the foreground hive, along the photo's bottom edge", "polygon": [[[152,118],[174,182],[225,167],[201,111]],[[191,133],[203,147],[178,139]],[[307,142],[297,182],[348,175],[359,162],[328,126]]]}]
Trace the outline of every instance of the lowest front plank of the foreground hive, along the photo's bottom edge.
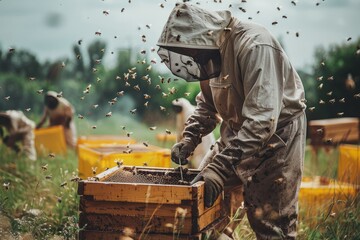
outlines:
[{"label": "lowest front plank of the foreground hive, along the photo's bottom edge", "polygon": [[136,234],[125,235],[121,232],[102,232],[80,230],[79,240],[119,240],[119,239],[139,239],[139,240],[201,240],[201,234],[196,235],[176,235],[173,234]]}]

